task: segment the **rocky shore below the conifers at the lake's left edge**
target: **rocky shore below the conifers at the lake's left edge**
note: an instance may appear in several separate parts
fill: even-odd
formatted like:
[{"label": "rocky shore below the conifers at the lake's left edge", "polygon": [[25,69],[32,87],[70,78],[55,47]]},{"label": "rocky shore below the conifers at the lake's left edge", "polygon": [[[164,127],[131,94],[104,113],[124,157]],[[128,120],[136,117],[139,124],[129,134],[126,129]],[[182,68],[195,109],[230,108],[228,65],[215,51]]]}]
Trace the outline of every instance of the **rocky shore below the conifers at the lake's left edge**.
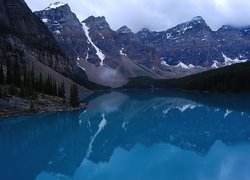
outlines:
[{"label": "rocky shore below the conifers at the lake's left edge", "polygon": [[72,108],[62,98],[38,94],[35,99],[8,96],[0,99],[0,117],[42,112],[74,111],[84,109],[86,104]]}]

